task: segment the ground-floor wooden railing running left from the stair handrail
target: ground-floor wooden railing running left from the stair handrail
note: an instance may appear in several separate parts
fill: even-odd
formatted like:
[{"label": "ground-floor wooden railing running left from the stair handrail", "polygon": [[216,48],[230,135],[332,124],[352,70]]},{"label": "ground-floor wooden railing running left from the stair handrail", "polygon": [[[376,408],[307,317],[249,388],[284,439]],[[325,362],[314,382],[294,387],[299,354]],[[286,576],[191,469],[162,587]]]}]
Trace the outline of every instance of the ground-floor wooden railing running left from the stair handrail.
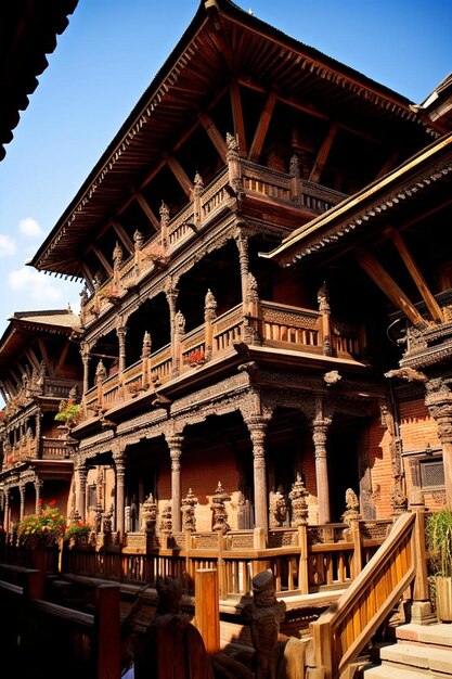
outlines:
[{"label": "ground-floor wooden railing running left from the stair handrail", "polygon": [[[146,534],[133,533],[126,536],[121,549],[113,547],[112,540],[104,542],[107,536],[98,535],[96,548],[66,550],[63,560],[65,571],[74,575],[147,581],[151,586],[158,577],[180,577],[189,592],[193,591],[197,569],[217,568],[222,599],[249,595],[254,575],[271,568],[279,593],[307,594],[347,588],[385,541],[391,525],[388,520],[357,521],[352,530],[344,524],[335,524],[336,529],[331,525],[277,528],[269,533],[268,546],[260,548],[253,529],[232,530],[225,536],[176,534],[168,545],[159,547],[151,547]],[[320,534],[322,539],[315,541]],[[160,538],[164,542],[167,539]]]}]

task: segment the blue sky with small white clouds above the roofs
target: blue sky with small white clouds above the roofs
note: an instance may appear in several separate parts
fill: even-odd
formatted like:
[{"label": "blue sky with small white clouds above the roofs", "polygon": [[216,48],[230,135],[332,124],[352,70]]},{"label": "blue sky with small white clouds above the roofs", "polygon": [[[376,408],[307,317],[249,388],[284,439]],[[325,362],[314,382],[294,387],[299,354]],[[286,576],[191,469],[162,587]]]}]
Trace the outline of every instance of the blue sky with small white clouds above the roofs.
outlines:
[{"label": "blue sky with small white clouds above the roofs", "polygon": [[[450,0],[238,0],[421,103],[452,71]],[[0,163],[0,334],[13,311],[78,310],[80,284],[25,266],[171,52],[198,0],[79,0]]]}]

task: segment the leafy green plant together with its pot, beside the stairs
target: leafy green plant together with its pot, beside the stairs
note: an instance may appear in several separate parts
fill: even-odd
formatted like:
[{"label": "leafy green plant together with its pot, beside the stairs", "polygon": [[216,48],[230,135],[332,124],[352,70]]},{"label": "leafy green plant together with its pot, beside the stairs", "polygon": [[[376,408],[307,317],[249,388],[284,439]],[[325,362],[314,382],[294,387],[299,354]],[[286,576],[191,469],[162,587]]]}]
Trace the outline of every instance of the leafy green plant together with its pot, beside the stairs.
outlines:
[{"label": "leafy green plant together with its pot, beside the stairs", "polygon": [[437,618],[452,623],[452,511],[443,507],[429,514],[425,534]]}]

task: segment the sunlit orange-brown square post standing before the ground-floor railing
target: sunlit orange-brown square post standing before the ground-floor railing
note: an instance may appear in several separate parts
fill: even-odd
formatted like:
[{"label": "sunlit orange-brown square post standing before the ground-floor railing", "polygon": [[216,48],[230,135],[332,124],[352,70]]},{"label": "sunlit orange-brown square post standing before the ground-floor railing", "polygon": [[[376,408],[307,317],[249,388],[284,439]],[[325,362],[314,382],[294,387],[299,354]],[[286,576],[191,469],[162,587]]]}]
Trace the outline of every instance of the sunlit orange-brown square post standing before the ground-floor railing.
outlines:
[{"label": "sunlit orange-brown square post standing before the ground-floor railing", "polygon": [[196,571],[195,627],[203,638],[207,655],[218,653],[220,651],[220,610],[216,568]]}]

